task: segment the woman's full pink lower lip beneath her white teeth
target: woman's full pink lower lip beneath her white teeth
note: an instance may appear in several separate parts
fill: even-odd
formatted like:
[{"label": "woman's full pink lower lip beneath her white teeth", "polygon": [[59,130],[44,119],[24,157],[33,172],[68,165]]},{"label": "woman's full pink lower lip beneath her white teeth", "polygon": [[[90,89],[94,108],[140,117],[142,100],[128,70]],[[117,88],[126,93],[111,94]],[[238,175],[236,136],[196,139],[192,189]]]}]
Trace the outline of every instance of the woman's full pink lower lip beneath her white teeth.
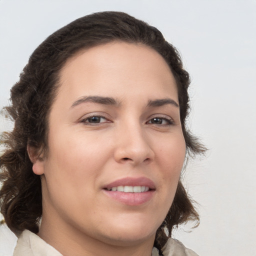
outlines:
[{"label": "woman's full pink lower lip beneath her white teeth", "polygon": [[120,191],[109,191],[105,189],[103,191],[107,196],[126,205],[141,205],[146,203],[152,198],[154,192],[154,190],[149,190],[140,193],[126,193]]}]

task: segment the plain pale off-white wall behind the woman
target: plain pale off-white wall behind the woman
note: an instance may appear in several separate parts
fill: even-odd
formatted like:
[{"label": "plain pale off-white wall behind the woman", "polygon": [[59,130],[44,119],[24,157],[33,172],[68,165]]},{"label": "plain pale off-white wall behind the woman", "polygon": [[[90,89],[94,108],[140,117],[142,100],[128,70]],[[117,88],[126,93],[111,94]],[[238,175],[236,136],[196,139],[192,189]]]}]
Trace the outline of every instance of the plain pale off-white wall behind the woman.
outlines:
[{"label": "plain pale off-white wall behind the woman", "polygon": [[[179,49],[192,78],[189,124],[209,151],[188,164],[185,183],[201,223],[173,235],[199,255],[256,255],[255,0],[0,0],[0,108],[46,36],[102,10],[156,26]],[[0,131],[8,127],[0,117]],[[0,256],[14,245],[2,226]]]}]

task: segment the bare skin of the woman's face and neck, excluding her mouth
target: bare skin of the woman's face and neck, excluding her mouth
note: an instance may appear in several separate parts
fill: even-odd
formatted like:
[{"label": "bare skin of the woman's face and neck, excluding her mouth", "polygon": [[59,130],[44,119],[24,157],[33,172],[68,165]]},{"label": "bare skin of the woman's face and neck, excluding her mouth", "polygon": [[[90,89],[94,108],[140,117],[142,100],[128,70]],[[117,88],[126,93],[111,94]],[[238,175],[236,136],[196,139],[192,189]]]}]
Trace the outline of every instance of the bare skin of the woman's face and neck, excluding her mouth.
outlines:
[{"label": "bare skin of the woman's face and neck, excluding her mouth", "polygon": [[[116,103],[84,101],[88,96]],[[178,105],[148,105],[166,98],[178,103],[174,77],[145,45],[95,46],[62,68],[47,157],[33,160],[28,152],[42,181],[38,235],[63,255],[151,255],[185,155]],[[153,182],[146,201],[133,205],[107,194],[107,184],[126,177]]]}]

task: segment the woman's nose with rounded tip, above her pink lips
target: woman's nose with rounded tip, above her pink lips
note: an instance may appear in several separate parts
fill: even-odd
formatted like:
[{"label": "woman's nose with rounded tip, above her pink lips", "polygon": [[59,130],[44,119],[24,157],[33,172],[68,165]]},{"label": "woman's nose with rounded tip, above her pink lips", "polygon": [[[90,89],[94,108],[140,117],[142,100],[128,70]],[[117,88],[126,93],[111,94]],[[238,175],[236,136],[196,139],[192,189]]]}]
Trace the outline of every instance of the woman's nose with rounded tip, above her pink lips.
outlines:
[{"label": "woman's nose with rounded tip, above her pink lips", "polygon": [[116,142],[114,158],[119,163],[135,166],[154,159],[150,139],[139,124],[120,127]]}]

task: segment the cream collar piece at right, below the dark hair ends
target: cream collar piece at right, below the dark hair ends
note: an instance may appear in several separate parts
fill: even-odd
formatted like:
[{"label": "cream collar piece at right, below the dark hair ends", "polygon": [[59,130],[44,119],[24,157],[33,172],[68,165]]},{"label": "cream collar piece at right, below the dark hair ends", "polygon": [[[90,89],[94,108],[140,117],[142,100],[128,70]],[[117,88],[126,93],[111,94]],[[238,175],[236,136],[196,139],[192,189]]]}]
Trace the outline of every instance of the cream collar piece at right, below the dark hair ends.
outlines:
[{"label": "cream collar piece at right, below the dark hair ends", "polygon": [[198,256],[193,250],[188,249],[179,240],[169,238],[162,248],[164,256]]}]

